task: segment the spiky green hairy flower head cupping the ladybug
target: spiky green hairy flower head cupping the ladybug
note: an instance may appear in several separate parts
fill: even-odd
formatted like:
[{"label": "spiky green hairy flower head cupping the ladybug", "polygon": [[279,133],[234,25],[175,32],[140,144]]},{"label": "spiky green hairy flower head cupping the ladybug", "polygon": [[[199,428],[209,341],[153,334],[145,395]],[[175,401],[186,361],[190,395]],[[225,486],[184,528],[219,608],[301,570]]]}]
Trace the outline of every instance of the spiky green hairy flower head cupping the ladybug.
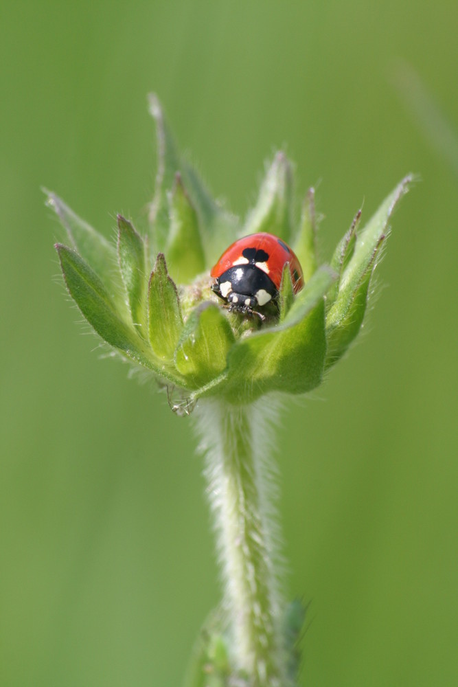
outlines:
[{"label": "spiky green hairy flower head cupping the ladybug", "polygon": [[[293,168],[284,153],[275,155],[240,225],[181,158],[154,96],[150,111],[159,161],[146,237],[118,216],[116,251],[47,193],[66,230],[65,244],[56,249],[71,297],[109,346],[185,401],[171,404],[177,411],[187,414],[203,396],[244,404],[269,392],[309,392],[358,334],[389,219],[411,177],[361,230],[358,212],[330,265],[319,267],[314,194],[308,192],[296,226]],[[209,276],[234,240],[255,232],[290,243],[304,271],[304,286],[295,294],[284,269],[278,297],[262,318],[230,312],[211,291]]]}]

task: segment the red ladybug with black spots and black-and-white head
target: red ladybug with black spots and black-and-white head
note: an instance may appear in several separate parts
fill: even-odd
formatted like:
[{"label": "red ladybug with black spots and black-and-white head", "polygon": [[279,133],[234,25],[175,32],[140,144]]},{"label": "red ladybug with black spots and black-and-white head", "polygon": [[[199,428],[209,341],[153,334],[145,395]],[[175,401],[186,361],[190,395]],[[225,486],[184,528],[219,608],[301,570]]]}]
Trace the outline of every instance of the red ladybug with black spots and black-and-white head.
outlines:
[{"label": "red ladybug with black spots and black-and-white head", "polygon": [[245,236],[229,246],[211,269],[216,280],[211,289],[229,303],[230,310],[256,313],[264,319],[253,308],[277,302],[286,263],[297,293],[304,286],[304,275],[290,247],[273,234]]}]

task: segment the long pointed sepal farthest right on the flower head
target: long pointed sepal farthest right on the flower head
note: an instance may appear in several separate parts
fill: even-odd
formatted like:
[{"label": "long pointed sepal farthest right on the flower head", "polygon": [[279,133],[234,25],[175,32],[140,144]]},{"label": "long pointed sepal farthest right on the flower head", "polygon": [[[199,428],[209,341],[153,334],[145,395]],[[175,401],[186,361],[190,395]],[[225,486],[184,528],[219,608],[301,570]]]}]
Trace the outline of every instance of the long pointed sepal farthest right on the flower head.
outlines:
[{"label": "long pointed sepal farthest right on the flower head", "polygon": [[[380,256],[380,247],[389,234],[389,218],[398,201],[409,189],[411,180],[408,176],[398,184],[356,237],[353,254],[341,275],[339,293],[326,316],[329,346],[327,367],[343,355],[363,323],[371,275]],[[345,237],[343,241],[345,244]],[[343,250],[344,264],[350,245],[351,237],[347,242],[347,248]]]}]

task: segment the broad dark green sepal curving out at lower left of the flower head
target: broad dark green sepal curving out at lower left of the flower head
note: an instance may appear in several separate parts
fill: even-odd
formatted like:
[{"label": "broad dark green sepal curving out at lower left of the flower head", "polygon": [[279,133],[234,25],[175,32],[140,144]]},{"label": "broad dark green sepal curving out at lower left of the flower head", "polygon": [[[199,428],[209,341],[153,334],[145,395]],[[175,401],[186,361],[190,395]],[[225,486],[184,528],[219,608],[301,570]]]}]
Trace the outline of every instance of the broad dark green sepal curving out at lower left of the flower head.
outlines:
[{"label": "broad dark green sepal curving out at lower left of the flower head", "polygon": [[56,251],[67,289],[95,332],[128,358],[157,372],[148,348],[119,317],[111,295],[93,269],[73,248],[57,243]]}]

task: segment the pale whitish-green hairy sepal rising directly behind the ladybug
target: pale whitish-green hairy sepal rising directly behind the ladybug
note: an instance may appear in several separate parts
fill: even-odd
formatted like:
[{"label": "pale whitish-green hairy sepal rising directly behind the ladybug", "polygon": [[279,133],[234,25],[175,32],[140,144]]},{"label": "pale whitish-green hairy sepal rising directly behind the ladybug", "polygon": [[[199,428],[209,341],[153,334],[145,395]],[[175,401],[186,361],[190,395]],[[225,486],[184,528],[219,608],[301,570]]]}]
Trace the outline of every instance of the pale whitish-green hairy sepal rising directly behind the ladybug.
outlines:
[{"label": "pale whitish-green hairy sepal rising directly behind the ladybug", "polygon": [[257,203],[244,225],[244,234],[268,232],[290,243],[293,229],[293,169],[280,151],[262,181]]}]

